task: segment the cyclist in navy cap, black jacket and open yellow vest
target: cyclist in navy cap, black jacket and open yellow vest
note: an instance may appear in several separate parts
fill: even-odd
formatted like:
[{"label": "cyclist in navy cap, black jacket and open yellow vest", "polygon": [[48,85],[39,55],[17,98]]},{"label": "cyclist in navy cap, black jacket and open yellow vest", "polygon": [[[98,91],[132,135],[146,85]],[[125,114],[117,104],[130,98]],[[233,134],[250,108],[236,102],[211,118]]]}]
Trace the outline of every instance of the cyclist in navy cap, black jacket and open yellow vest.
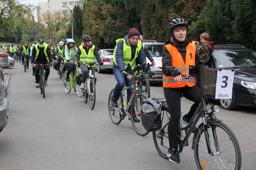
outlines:
[{"label": "cyclist in navy cap, black jacket and open yellow vest", "polygon": [[32,61],[31,61],[32,67],[35,67],[35,82],[36,82],[35,87],[39,88],[40,87],[39,85],[40,66],[35,66],[36,64],[49,64],[49,66],[44,66],[45,79],[46,79],[45,84],[48,86],[47,80],[50,75],[50,68],[53,66],[53,58],[51,56],[51,51],[50,51],[50,48],[48,47],[48,44],[44,43],[44,40],[42,38],[38,39],[38,43],[34,46],[32,50]]}]

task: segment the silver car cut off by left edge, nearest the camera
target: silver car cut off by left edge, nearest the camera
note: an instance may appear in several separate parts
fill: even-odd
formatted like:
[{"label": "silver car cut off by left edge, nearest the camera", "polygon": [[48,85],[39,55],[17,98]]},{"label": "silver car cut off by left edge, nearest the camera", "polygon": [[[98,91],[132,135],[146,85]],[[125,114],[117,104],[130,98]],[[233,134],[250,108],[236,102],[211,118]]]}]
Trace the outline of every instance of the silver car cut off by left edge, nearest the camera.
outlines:
[{"label": "silver car cut off by left edge, nearest the camera", "polygon": [[0,132],[9,120],[9,101],[5,98],[4,83],[0,79]]}]

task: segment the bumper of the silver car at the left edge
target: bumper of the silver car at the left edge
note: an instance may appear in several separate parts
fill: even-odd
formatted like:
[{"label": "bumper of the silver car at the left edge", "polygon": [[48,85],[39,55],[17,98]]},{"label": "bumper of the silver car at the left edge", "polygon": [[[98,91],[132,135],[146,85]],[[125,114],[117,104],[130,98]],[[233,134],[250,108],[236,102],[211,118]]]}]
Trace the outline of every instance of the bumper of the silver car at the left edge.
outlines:
[{"label": "bumper of the silver car at the left edge", "polygon": [[3,103],[0,105],[0,130],[3,129],[9,121],[9,100],[4,98]]}]

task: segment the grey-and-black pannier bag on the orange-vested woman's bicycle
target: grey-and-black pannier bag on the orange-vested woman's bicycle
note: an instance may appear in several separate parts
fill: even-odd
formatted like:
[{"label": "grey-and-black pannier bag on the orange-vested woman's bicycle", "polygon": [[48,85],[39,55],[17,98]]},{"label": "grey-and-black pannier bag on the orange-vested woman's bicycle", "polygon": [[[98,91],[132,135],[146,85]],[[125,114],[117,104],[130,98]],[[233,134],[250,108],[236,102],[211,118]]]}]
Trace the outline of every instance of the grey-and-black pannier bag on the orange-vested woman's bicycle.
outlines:
[{"label": "grey-and-black pannier bag on the orange-vested woman's bicycle", "polygon": [[148,132],[157,131],[161,125],[162,103],[156,98],[147,98],[141,108],[142,126]]}]

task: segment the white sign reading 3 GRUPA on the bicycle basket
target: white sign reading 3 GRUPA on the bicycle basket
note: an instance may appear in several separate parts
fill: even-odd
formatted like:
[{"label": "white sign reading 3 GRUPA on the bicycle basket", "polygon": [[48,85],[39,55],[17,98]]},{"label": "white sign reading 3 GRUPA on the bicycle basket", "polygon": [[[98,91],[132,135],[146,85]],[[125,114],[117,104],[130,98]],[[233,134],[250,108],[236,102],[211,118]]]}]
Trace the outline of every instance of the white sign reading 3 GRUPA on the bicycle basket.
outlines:
[{"label": "white sign reading 3 GRUPA on the bicycle basket", "polygon": [[232,99],[235,70],[218,70],[216,82],[216,99]]}]

